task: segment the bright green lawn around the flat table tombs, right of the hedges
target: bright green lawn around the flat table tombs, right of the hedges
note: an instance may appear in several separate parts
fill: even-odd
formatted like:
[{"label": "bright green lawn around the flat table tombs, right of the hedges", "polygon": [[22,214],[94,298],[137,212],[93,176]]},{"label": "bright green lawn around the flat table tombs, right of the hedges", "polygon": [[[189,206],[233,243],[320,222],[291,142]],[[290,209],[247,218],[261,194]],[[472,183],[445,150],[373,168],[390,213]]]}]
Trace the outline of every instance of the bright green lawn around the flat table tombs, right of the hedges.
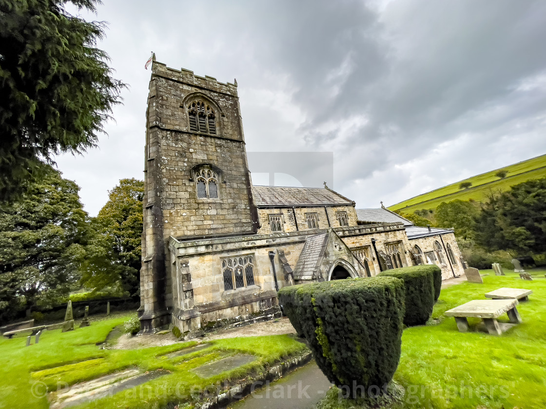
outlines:
[{"label": "bright green lawn around the flat table tombs, right of the hedges", "polygon": [[[543,409],[546,407],[546,270],[531,270],[533,281],[505,270],[505,277],[482,270],[484,284],[463,282],[442,290],[430,326],[412,327],[402,335],[402,356],[394,379],[406,390],[405,402],[392,409]],[[443,312],[500,287],[533,290],[518,306],[523,323],[501,336],[460,333]],[[506,317],[506,318],[505,318]],[[472,326],[480,320],[469,318]],[[499,321],[508,322],[505,315]],[[321,409],[349,408],[332,388]]]}]

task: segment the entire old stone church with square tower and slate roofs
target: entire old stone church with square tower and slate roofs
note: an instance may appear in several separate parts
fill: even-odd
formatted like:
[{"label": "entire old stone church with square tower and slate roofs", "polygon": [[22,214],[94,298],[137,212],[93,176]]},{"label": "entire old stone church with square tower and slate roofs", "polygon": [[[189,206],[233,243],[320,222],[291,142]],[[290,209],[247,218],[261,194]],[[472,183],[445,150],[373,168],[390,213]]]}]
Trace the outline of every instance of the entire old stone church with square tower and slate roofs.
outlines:
[{"label": "entire old stone church with square tower and slate roofs", "polygon": [[236,81],[154,58],[149,89],[141,333],[278,316],[287,285],[420,263],[463,274],[453,230],[356,209],[326,185],[253,186]]}]

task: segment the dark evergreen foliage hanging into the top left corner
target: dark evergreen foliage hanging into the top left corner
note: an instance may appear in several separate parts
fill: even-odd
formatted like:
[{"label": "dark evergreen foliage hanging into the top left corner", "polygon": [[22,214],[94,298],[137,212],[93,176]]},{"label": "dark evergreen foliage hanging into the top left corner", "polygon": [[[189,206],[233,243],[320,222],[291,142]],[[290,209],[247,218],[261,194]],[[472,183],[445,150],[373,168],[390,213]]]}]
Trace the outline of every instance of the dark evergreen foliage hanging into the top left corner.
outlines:
[{"label": "dark evergreen foliage hanging into the top left corner", "polygon": [[96,48],[104,24],[70,15],[66,3],[0,0],[0,200],[13,200],[49,169],[51,155],[96,146],[124,84]]}]

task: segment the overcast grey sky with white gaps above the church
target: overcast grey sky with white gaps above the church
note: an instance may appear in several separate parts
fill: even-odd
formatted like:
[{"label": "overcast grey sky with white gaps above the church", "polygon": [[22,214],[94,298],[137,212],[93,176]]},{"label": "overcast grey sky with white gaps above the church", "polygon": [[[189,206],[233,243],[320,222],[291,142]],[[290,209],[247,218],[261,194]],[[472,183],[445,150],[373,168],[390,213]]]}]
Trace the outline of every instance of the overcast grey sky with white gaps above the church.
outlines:
[{"label": "overcast grey sky with white gaps above the church", "polygon": [[330,187],[357,207],[546,153],[542,0],[107,0],[82,16],[109,23],[99,47],[129,85],[99,148],[57,158],[90,215],[143,178],[151,51],[236,78],[247,151],[333,152]]}]

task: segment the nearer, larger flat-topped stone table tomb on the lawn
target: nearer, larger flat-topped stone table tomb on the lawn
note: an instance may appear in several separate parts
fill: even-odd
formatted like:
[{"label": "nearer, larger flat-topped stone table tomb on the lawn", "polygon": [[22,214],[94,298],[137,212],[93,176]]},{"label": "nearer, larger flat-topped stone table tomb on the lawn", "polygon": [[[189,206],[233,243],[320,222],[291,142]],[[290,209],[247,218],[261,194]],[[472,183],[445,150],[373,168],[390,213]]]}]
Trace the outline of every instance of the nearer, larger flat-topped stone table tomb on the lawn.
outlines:
[{"label": "nearer, larger flat-topped stone table tomb on the lawn", "polygon": [[[485,328],[491,335],[501,335],[508,328],[521,323],[516,309],[517,299],[472,300],[445,312],[448,317],[455,317],[460,332],[468,331],[467,317],[482,318]],[[507,313],[510,323],[498,323],[497,318]]]}]

